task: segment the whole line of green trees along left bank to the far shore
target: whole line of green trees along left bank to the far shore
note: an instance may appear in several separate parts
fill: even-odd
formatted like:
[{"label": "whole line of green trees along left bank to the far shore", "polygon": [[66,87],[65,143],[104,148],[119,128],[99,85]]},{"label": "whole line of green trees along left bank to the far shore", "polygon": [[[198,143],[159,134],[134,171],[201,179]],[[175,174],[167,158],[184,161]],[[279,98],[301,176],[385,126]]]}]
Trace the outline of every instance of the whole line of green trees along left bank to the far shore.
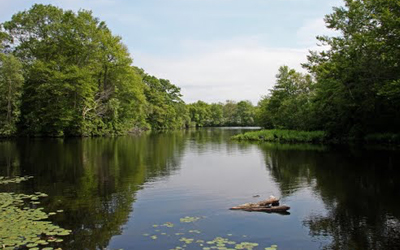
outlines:
[{"label": "whole line of green trees along left bank to the far shore", "polygon": [[179,87],[132,63],[121,37],[90,11],[35,4],[13,15],[0,24],[0,136],[252,124],[247,102],[221,114],[220,104],[186,105]]}]

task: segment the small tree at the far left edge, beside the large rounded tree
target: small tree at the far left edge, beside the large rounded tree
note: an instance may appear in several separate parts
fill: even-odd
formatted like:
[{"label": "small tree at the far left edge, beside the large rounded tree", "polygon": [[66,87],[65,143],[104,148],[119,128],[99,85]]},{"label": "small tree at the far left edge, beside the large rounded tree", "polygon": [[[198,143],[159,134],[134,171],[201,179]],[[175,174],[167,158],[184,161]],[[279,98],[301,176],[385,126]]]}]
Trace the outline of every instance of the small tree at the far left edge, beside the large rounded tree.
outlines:
[{"label": "small tree at the far left edge, beside the large rounded tree", "polygon": [[16,133],[23,82],[22,64],[13,55],[0,53],[0,136]]}]

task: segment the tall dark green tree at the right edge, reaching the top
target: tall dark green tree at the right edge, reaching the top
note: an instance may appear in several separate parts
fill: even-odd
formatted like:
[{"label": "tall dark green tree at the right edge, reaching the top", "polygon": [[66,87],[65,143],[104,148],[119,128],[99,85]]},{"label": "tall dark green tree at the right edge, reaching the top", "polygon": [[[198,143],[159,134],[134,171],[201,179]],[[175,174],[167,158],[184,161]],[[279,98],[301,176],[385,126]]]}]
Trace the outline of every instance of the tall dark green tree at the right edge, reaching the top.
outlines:
[{"label": "tall dark green tree at the right edge, reaching the top", "polygon": [[340,32],[305,65],[317,80],[319,127],[361,137],[400,128],[400,9],[391,0],[346,0],[325,18]]}]

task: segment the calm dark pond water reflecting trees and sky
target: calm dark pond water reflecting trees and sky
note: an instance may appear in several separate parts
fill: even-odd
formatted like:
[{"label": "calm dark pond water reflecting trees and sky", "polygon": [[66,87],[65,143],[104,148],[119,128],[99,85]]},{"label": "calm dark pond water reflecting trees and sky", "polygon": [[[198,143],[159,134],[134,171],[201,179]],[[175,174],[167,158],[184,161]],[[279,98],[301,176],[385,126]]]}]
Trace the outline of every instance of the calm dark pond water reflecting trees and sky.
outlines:
[{"label": "calm dark pond water reflecting trees and sky", "polygon": [[[53,221],[73,230],[63,249],[173,249],[181,237],[217,236],[262,250],[400,249],[400,151],[229,140],[241,131],[3,141],[0,175],[35,178],[0,191],[49,194],[42,205],[63,209]],[[228,210],[271,194],[290,215]],[[165,222],[175,226],[153,227]]]}]

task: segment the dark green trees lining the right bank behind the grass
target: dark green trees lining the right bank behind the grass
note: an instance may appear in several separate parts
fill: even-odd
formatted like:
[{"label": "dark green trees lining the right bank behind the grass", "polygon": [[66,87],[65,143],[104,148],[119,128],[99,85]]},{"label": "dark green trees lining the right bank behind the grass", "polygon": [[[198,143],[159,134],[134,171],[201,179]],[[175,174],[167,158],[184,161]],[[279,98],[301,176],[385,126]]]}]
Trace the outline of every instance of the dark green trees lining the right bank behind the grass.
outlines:
[{"label": "dark green trees lining the right bank behind the grass", "polygon": [[400,7],[391,0],[346,0],[325,18],[339,33],[318,37],[309,74],[282,66],[258,104],[265,128],[324,130],[361,138],[400,132]]}]

